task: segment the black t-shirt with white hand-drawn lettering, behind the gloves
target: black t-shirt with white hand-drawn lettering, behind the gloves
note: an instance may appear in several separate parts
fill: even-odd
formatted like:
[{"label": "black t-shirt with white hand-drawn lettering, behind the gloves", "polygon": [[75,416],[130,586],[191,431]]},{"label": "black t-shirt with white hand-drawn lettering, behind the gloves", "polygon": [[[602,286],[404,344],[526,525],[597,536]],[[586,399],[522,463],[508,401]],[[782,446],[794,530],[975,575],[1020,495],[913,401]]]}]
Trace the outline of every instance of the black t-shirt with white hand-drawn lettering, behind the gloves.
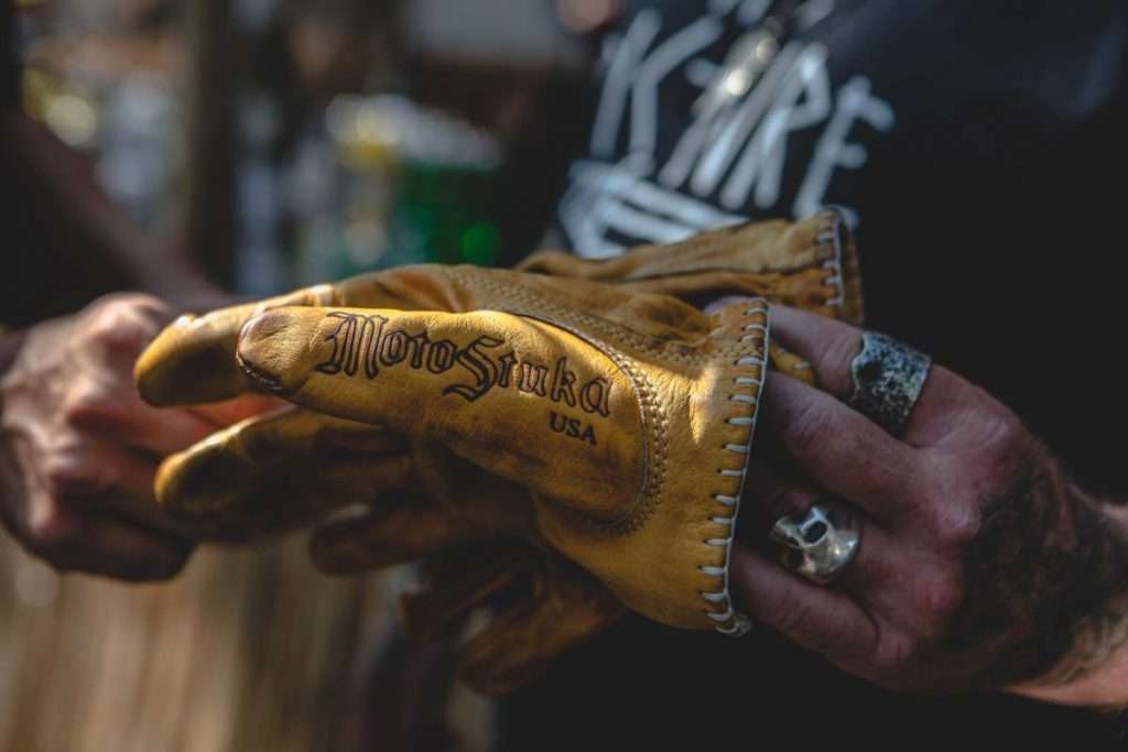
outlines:
[{"label": "black t-shirt with white hand-drawn lettering, behind the gloves", "polygon": [[[755,87],[695,116],[769,5],[627,3],[559,205],[573,248],[614,255],[839,205],[857,227],[867,326],[984,386],[1091,485],[1128,493],[1128,3],[816,0]],[[641,619],[566,656],[505,718],[514,750],[1128,743],[1087,711],[899,697],[767,630],[731,642]]]}]

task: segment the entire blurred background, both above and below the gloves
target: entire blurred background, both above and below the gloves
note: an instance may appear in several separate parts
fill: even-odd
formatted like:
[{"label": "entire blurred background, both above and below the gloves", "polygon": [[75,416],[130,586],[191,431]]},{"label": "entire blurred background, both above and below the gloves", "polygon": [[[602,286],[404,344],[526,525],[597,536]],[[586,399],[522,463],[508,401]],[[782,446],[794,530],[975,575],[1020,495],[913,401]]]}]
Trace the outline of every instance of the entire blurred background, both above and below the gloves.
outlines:
[{"label": "entire blurred background, both above and below the gloves", "polygon": [[[228,290],[504,265],[549,227],[588,129],[584,35],[614,5],[25,0],[24,109]],[[118,286],[97,272],[29,313]],[[131,587],[61,578],[2,540],[0,749],[394,749],[377,726],[399,706],[370,680],[386,581],[321,577],[291,540]],[[481,749],[488,706],[446,707],[435,749]]]}]

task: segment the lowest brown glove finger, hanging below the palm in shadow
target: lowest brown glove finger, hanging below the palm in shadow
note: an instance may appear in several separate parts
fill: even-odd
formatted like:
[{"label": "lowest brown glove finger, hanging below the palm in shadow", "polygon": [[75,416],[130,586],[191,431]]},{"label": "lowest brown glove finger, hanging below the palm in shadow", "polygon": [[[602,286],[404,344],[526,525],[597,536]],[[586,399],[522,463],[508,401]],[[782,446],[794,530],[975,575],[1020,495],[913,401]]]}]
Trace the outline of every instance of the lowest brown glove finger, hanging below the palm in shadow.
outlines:
[{"label": "lowest brown glove finger, hanging below the palm in shadow", "polygon": [[505,695],[543,674],[564,651],[626,611],[587,573],[556,559],[534,592],[496,613],[459,653],[458,676],[483,695]]}]

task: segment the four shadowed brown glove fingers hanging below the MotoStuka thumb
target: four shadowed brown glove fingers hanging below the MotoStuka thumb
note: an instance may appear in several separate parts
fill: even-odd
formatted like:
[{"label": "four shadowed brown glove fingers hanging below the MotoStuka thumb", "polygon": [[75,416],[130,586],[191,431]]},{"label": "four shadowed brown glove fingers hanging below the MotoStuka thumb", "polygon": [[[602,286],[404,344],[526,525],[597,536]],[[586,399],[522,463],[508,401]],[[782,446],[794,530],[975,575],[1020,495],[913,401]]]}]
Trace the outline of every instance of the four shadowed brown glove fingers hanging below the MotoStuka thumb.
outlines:
[{"label": "four shadowed brown glove fingers hanging below the MotoStuka thumb", "polygon": [[424,589],[403,596],[405,631],[418,639],[457,630],[504,592],[459,651],[459,676],[483,693],[527,683],[624,612],[598,580],[543,541],[529,545],[539,536],[527,489],[378,426],[287,407],[174,455],[157,484],[170,511],[226,542],[362,507],[323,525],[310,554],[333,574],[437,564]]}]

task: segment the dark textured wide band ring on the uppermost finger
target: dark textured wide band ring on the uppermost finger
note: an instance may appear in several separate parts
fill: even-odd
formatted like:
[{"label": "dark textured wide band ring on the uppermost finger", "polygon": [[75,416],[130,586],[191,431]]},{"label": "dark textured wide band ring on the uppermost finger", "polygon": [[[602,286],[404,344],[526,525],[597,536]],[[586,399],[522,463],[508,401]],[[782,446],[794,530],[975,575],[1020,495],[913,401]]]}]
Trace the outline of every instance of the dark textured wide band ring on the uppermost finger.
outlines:
[{"label": "dark textured wide band ring on the uppermost finger", "polygon": [[849,366],[854,393],[846,404],[899,436],[931,368],[927,355],[883,334],[863,331],[862,352]]}]

